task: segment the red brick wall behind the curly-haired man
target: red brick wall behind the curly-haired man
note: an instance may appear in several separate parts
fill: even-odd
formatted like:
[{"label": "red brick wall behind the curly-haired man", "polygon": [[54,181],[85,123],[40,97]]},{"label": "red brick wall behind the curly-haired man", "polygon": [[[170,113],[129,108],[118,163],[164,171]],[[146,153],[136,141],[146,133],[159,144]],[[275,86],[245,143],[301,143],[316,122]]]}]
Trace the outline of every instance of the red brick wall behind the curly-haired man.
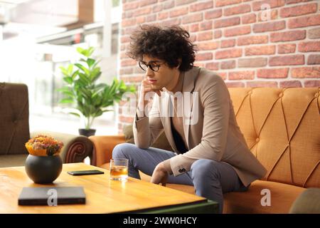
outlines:
[{"label": "red brick wall behind the curly-haired man", "polygon": [[[139,24],[178,24],[198,45],[196,66],[228,87],[320,86],[320,1],[122,0],[120,78],[142,81],[126,56]],[[119,108],[119,132],[132,116]]]}]

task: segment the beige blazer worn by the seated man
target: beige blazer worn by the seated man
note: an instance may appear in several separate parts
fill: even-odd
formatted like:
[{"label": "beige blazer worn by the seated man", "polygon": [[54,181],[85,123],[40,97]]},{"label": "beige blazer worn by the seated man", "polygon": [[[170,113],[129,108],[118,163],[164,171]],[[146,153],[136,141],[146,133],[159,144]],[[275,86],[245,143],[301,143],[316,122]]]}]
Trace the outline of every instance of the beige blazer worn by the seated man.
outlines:
[{"label": "beige blazer worn by the seated man", "polygon": [[[185,97],[188,93],[191,97]],[[148,148],[164,130],[171,147],[179,153],[171,132],[169,99],[172,99],[169,93],[155,94],[149,117],[138,119],[136,113],[133,131],[137,147]],[[188,151],[165,161],[169,172],[178,176],[191,170],[196,160],[209,159],[230,164],[245,186],[265,176],[267,170],[247,147],[240,132],[228,88],[220,76],[205,68],[186,71],[182,102],[178,105],[183,106]]]}]

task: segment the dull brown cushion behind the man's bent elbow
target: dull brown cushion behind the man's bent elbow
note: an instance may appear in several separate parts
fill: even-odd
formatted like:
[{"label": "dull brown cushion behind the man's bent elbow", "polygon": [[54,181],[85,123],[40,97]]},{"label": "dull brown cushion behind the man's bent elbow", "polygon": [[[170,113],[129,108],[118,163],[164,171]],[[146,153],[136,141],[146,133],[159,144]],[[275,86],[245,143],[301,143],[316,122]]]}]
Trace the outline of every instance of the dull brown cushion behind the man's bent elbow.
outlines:
[{"label": "dull brown cushion behind the man's bent elbow", "polygon": [[[132,130],[132,125],[125,125],[123,128],[123,134],[126,142],[134,144],[134,135]],[[156,147],[162,150],[170,150],[174,151],[171,148],[171,145],[169,144],[169,141],[166,139],[166,134],[164,131],[159,135],[159,138],[157,138],[154,143],[151,145],[151,147]]]}]

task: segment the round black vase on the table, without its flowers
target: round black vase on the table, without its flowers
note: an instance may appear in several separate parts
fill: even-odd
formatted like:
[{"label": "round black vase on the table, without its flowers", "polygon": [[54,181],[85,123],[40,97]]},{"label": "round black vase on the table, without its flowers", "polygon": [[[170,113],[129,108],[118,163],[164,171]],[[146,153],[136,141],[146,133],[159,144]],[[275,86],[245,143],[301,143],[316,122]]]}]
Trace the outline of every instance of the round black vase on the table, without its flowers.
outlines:
[{"label": "round black vase on the table, without its flowers", "polygon": [[25,167],[28,177],[30,177],[33,182],[37,184],[50,184],[59,177],[63,162],[59,155],[28,155]]}]

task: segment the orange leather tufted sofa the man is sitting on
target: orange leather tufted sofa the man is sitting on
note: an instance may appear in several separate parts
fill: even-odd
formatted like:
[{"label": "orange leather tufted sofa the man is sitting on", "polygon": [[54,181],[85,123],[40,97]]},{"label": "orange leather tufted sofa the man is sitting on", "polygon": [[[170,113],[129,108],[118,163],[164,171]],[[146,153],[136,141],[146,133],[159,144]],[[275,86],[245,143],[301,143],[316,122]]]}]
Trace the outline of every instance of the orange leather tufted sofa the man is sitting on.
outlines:
[{"label": "orange leather tufted sofa the man is sitting on", "polygon": [[[288,213],[306,188],[320,187],[320,88],[229,91],[247,145],[268,172],[262,180],[252,182],[247,192],[225,194],[224,213]],[[93,164],[108,169],[113,147],[133,142],[130,128],[125,129],[124,135],[90,137],[94,144]],[[164,135],[152,146],[169,150]],[[150,177],[142,175],[142,179]],[[193,186],[167,187],[194,194]],[[270,205],[262,206],[267,190]],[[299,211],[297,205],[292,212]]]}]

